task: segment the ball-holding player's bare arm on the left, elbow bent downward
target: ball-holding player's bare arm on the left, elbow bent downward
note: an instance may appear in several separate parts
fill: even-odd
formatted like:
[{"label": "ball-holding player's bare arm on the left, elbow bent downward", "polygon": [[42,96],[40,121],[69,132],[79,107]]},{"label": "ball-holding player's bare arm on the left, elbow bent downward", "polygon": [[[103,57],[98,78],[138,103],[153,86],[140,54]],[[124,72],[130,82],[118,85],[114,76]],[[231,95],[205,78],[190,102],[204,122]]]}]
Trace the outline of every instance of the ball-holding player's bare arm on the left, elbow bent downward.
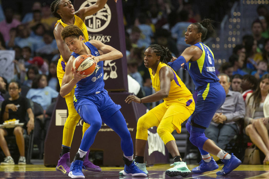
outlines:
[{"label": "ball-holding player's bare arm on the left, elbow bent downward", "polygon": [[72,66],[73,66],[74,60],[75,60],[75,57],[70,56],[70,59],[68,60],[65,67],[65,74],[63,75],[62,86],[60,89],[60,95],[62,97],[70,93],[78,81],[87,77],[87,76],[83,76],[84,72],[80,75],[81,70],[76,72],[77,69],[76,68],[73,69]]}]

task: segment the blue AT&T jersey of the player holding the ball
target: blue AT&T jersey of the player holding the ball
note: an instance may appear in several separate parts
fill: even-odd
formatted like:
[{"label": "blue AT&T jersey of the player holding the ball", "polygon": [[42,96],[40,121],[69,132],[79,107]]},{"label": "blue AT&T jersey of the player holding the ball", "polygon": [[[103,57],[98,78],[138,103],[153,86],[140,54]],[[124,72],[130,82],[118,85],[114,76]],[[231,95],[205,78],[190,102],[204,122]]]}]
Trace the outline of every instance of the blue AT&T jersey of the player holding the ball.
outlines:
[{"label": "blue AT&T jersey of the player holding the ball", "polygon": [[[90,42],[85,42],[85,45],[91,50],[91,54],[93,56],[99,56],[97,48],[91,45]],[[75,58],[79,56],[79,54],[75,52],[72,52],[71,55],[73,55]],[[95,67],[95,71],[93,72],[93,74],[77,82],[77,87],[75,88],[75,95],[79,94],[83,96],[89,96],[104,91],[105,82],[103,80],[103,65],[104,62],[99,61]]]}]

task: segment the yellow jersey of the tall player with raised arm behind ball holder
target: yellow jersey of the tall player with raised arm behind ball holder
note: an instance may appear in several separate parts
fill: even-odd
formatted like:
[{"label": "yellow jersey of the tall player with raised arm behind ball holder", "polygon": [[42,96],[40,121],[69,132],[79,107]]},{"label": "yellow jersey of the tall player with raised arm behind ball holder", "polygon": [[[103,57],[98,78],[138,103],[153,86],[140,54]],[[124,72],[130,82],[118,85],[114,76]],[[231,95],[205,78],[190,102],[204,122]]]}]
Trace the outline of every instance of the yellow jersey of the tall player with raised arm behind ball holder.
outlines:
[{"label": "yellow jersey of the tall player with raised arm behind ball holder", "polygon": [[[61,23],[63,27],[68,26],[67,24],[63,23],[62,19],[58,20],[57,23],[55,24],[55,26],[58,23]],[[84,24],[83,20],[80,19],[77,15],[75,15],[75,23],[74,23],[74,25],[76,25],[77,27],[79,27],[82,30],[83,35],[84,35],[83,42],[88,42],[89,41],[89,35],[88,35],[87,27]],[[58,60],[58,64],[57,64],[57,77],[59,79],[60,86],[62,86],[63,75],[65,74],[65,65],[66,65],[66,62],[63,61],[63,58],[62,58],[62,55],[61,55],[60,59]]]}]

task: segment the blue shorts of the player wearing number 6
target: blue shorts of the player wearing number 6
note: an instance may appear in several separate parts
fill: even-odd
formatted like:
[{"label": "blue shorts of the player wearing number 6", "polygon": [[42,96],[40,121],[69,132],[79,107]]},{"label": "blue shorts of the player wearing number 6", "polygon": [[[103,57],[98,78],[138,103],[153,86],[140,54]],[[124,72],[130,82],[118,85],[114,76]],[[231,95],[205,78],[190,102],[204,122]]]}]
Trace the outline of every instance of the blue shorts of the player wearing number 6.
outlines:
[{"label": "blue shorts of the player wearing number 6", "polygon": [[219,82],[208,83],[199,89],[193,114],[189,118],[192,126],[206,129],[226,98],[224,88]]}]

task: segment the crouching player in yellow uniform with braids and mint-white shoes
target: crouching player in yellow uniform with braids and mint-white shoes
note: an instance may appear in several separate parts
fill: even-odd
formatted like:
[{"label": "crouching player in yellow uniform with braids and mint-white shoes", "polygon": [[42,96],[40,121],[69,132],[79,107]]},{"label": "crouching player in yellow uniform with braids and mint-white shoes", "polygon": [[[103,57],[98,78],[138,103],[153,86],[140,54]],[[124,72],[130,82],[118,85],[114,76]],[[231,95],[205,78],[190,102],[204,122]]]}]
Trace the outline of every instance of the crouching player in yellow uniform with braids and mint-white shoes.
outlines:
[{"label": "crouching player in yellow uniform with braids and mint-white shoes", "polygon": [[[148,138],[148,129],[158,126],[157,133],[164,141],[165,146],[174,158],[174,167],[165,171],[170,176],[187,176],[191,171],[178,151],[175,138],[172,132],[176,129],[181,132],[181,124],[193,113],[195,104],[192,93],[176,75],[175,71],[167,65],[172,59],[172,55],[167,48],[152,44],[148,46],[144,53],[144,64],[150,72],[152,87],[156,93],[138,98],[134,95],[128,96],[126,103],[132,101],[136,103],[150,103],[164,99],[164,102],[154,107],[141,116],[137,122],[136,131],[136,156],[137,166],[148,173],[144,163],[144,151]],[[121,175],[121,172],[119,173]]]}]

